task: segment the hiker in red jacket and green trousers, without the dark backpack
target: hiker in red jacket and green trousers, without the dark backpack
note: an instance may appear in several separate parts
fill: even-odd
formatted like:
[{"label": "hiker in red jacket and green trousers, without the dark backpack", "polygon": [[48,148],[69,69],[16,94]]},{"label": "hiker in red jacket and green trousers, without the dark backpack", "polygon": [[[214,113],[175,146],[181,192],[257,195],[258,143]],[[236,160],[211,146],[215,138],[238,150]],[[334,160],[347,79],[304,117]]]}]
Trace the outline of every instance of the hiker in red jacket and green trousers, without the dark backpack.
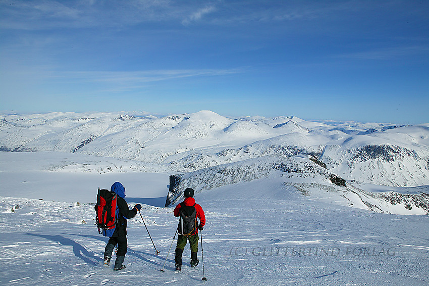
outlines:
[{"label": "hiker in red jacket and green trousers, without the dark backpack", "polygon": [[[196,218],[199,219],[199,224],[195,225],[195,230],[191,231],[188,234],[181,234],[179,231],[179,235],[177,236],[177,245],[176,245],[176,256],[174,261],[176,263],[176,271],[182,270],[182,254],[185,249],[186,243],[189,241],[189,245],[191,246],[191,267],[195,267],[198,265],[198,229],[202,230],[205,225],[205,215],[201,206],[195,203],[194,190],[192,188],[186,188],[183,194],[185,200],[178,204],[174,209],[174,216],[180,216],[180,209],[183,207],[188,208],[194,207],[196,209]],[[192,208],[191,208],[192,209]]]}]

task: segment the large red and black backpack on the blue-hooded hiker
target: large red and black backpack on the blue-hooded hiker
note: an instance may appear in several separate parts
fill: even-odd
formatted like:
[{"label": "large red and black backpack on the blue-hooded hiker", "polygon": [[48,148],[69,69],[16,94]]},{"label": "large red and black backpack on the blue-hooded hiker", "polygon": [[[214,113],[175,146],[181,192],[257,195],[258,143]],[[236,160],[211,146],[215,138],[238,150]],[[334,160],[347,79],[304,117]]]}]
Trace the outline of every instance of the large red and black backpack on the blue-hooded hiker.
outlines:
[{"label": "large red and black backpack on the blue-hooded hiker", "polygon": [[112,236],[118,222],[116,193],[98,187],[95,212],[98,233],[102,233],[104,236]]}]

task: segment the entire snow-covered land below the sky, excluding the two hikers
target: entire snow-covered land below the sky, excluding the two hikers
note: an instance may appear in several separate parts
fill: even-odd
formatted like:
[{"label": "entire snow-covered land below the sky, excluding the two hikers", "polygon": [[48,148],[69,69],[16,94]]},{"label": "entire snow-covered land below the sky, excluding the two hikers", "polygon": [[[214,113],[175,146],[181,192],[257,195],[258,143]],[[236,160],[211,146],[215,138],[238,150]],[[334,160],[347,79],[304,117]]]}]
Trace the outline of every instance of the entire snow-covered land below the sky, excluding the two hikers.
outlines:
[{"label": "entire snow-covered land below the sky, excluding the two hikers", "polygon": [[[1,285],[429,284],[429,124],[2,116]],[[97,189],[115,181],[160,251],[137,214],[122,271],[102,267],[94,224]],[[159,271],[185,187],[206,214],[205,282],[201,245],[196,268],[187,246],[174,272],[174,243]]]}]

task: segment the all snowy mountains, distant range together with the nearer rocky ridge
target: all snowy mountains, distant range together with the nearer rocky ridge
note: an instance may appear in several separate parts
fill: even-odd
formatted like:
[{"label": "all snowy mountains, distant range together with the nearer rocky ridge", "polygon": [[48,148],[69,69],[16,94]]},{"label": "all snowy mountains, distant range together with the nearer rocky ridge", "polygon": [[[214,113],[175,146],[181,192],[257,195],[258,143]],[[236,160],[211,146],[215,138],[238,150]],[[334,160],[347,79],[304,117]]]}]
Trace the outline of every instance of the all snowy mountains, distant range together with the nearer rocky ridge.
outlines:
[{"label": "all snowy mountains, distant range together with the nearer rocky ridge", "polygon": [[168,170],[167,206],[181,199],[185,184],[200,192],[272,178],[304,196],[336,194],[331,200],[353,207],[398,213],[395,206],[401,205],[399,213],[429,213],[428,123],[229,118],[211,111],[2,114],[0,119],[0,151],[79,153]]}]

